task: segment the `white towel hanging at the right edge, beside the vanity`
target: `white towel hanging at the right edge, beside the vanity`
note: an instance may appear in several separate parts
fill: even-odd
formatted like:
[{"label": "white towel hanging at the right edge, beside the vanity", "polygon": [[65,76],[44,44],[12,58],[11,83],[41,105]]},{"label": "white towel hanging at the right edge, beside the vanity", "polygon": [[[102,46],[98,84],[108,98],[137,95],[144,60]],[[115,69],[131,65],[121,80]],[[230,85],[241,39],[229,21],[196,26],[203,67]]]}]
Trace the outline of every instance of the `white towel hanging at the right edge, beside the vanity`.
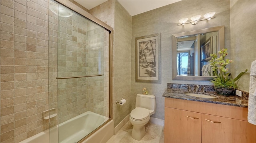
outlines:
[{"label": "white towel hanging at the right edge, beside the vanity", "polygon": [[256,60],[250,70],[250,88],[248,100],[248,122],[256,125]]}]

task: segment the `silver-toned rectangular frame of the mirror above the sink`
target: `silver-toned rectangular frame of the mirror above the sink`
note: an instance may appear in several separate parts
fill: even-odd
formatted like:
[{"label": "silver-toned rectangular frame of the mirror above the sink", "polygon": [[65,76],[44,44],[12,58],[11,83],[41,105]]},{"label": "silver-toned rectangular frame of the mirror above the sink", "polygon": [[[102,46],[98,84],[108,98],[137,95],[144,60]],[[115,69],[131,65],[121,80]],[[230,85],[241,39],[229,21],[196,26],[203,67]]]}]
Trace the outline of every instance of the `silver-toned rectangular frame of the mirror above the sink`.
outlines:
[{"label": "silver-toned rectangular frame of the mirror above the sink", "polygon": [[225,47],[225,32],[224,25],[205,28],[200,30],[193,30],[188,32],[172,34],[172,79],[173,80],[212,80],[214,76],[177,76],[177,37],[187,36],[187,35],[196,35],[200,33],[208,32],[218,32],[218,43],[217,51],[220,51],[220,47]]}]

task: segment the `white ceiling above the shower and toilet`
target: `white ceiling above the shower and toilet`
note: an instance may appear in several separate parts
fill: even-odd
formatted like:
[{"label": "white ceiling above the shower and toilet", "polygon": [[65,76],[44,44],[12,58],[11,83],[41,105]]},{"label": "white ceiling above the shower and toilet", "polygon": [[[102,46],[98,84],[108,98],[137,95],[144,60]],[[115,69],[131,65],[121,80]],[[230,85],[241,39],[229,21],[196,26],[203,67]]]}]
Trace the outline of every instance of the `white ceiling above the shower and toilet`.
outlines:
[{"label": "white ceiling above the shower and toilet", "polygon": [[[86,9],[90,10],[108,0],[74,0]],[[162,6],[178,2],[180,0],[118,0],[131,16],[148,12]]]}]

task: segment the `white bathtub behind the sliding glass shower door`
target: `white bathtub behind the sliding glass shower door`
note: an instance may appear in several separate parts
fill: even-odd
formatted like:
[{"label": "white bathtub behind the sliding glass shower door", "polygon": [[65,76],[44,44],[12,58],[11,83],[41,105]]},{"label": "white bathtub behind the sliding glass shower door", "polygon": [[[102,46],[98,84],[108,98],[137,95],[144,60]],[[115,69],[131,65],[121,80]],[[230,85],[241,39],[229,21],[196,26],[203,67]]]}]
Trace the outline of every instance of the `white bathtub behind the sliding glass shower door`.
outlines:
[{"label": "white bathtub behind the sliding glass shower door", "polygon": [[[88,111],[20,143],[76,143],[107,120],[108,118],[102,115]],[[105,143],[112,135],[114,135],[113,120],[106,123],[81,143]]]}]

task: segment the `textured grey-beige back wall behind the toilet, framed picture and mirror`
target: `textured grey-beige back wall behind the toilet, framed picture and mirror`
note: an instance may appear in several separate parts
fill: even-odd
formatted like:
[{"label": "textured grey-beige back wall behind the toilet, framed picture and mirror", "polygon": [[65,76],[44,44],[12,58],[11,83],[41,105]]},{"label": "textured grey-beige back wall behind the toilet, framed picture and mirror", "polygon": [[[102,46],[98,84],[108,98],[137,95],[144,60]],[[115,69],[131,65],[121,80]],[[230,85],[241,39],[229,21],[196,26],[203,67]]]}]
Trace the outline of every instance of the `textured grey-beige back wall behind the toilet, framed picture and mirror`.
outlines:
[{"label": "textured grey-beige back wall behind the toilet, framed picture and mirror", "polygon": [[[191,18],[194,15],[203,16],[207,12],[215,11],[216,15],[210,21],[200,21],[196,25],[178,25],[181,18]],[[225,45],[230,50],[230,2],[224,0],[182,0],[149,12],[132,16],[132,109],[135,108],[135,95],[142,92],[142,88],[149,89],[149,94],[156,96],[156,114],[154,118],[164,119],[164,98],[162,94],[167,83],[210,84],[209,81],[172,80],[172,52],[171,35],[184,31],[203,29],[225,25]],[[161,69],[162,83],[135,82],[135,37],[161,33]]]}]

